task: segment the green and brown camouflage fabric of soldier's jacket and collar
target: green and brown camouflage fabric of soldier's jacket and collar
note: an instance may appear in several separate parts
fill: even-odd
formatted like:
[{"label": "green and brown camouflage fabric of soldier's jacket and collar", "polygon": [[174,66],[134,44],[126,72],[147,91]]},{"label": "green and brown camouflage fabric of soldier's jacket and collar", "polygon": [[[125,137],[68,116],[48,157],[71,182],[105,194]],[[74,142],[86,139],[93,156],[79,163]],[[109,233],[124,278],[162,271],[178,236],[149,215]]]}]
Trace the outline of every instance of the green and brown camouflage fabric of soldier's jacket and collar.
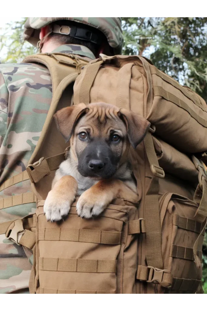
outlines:
[{"label": "green and brown camouflage fabric of soldier's jacket and collar", "polygon": [[[53,52],[94,59],[80,45],[67,44]],[[46,67],[38,64],[0,65],[0,183],[26,169],[40,137],[52,99],[52,82]],[[31,192],[30,181],[0,192],[0,198]],[[33,214],[35,203],[0,209],[0,223]],[[0,235],[0,294],[29,294],[33,256]]]}]

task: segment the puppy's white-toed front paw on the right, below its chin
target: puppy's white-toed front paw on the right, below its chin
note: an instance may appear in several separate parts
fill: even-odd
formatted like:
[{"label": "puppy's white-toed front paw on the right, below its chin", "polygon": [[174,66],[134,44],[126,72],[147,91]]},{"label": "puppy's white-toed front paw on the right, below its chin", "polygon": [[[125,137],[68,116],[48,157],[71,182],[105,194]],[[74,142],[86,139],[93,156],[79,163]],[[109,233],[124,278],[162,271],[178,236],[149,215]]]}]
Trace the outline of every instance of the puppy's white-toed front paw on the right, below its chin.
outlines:
[{"label": "puppy's white-toed front paw on the right, below its chin", "polygon": [[88,189],[79,197],[76,210],[82,218],[91,218],[100,215],[109,203],[107,195],[100,196]]}]

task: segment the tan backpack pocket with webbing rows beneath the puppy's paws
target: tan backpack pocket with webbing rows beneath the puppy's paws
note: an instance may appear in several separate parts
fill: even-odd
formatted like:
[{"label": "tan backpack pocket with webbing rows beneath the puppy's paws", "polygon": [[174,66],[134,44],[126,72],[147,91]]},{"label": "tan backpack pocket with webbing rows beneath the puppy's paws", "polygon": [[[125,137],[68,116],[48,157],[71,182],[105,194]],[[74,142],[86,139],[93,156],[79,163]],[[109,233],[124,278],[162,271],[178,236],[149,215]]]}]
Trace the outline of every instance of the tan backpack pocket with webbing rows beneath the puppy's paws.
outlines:
[{"label": "tan backpack pocket with webbing rows beneath the puppy's paws", "polygon": [[[127,221],[137,218],[137,208],[120,203],[86,220],[77,216],[75,202],[60,228],[47,222],[44,201],[38,202],[35,293],[136,294],[137,240],[128,235]],[[123,257],[128,279],[117,265]]]}]

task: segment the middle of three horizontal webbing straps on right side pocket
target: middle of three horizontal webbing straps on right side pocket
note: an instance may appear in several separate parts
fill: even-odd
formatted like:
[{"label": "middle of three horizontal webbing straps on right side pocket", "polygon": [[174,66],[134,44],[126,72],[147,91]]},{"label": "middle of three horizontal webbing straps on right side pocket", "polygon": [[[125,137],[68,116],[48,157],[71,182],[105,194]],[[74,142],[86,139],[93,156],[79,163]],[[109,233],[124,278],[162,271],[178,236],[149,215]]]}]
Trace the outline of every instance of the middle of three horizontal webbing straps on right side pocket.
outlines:
[{"label": "middle of three horizontal webbing straps on right side pocket", "polygon": [[[172,244],[170,248],[170,256],[175,258],[194,260],[193,248]],[[197,250],[197,256],[202,259],[202,251]]]}]

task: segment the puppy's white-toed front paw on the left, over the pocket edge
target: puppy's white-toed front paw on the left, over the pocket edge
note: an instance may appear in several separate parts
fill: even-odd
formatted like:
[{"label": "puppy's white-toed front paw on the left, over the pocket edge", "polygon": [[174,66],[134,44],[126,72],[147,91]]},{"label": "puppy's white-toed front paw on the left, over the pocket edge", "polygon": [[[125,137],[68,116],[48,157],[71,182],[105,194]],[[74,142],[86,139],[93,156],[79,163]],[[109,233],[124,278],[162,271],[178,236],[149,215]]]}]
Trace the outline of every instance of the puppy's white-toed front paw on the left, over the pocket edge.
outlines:
[{"label": "puppy's white-toed front paw on the left, over the pocket edge", "polygon": [[61,197],[56,191],[50,191],[44,203],[44,213],[47,221],[58,221],[67,216],[75,196]]}]

